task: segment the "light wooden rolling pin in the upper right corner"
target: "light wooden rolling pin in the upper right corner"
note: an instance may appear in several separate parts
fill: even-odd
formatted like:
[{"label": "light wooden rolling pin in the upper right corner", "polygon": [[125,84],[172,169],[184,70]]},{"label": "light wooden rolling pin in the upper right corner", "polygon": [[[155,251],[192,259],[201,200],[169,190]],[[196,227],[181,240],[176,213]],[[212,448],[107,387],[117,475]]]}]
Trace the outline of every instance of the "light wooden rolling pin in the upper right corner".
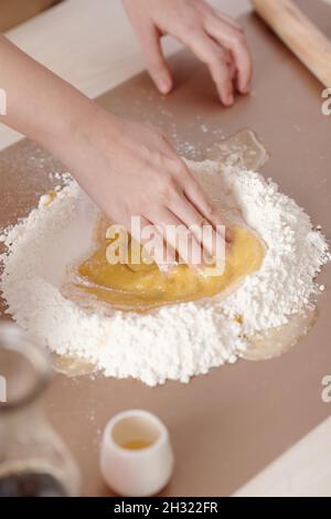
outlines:
[{"label": "light wooden rolling pin in the upper right corner", "polygon": [[310,72],[331,87],[331,41],[327,35],[291,0],[252,0],[252,3]]}]

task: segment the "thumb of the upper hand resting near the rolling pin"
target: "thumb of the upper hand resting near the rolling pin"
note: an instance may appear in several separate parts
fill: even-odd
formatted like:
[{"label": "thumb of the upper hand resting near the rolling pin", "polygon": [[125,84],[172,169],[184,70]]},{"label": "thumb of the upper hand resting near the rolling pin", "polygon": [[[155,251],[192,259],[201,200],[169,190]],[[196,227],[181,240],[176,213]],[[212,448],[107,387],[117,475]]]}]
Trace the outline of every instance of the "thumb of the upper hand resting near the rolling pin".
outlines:
[{"label": "thumb of the upper hand resting near the rolling pin", "polygon": [[161,94],[169,94],[172,88],[172,77],[163,56],[160,33],[151,25],[141,32],[140,40],[152,81]]}]

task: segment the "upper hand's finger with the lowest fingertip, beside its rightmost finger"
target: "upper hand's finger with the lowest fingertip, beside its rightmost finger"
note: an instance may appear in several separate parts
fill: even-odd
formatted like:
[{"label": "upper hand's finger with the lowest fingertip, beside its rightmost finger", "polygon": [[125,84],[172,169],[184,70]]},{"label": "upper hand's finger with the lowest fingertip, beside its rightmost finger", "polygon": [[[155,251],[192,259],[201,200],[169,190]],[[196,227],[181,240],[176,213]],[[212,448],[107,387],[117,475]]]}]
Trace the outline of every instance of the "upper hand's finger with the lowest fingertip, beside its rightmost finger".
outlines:
[{"label": "upper hand's finger with the lowest fingertip, beside its rightmost finger", "polygon": [[233,84],[224,50],[202,29],[185,33],[180,39],[210,68],[222,103],[225,106],[233,105]]}]

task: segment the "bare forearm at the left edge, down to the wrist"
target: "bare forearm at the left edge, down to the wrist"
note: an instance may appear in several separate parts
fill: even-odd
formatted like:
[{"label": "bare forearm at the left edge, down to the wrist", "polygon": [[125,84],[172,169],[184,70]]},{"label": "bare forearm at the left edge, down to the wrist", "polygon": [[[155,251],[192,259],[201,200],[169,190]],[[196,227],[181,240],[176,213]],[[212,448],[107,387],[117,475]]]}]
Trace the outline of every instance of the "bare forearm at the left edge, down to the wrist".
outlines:
[{"label": "bare forearm at the left edge, down to the wrist", "polygon": [[97,106],[65,81],[0,35],[0,88],[7,114],[0,121],[40,142],[60,158]]}]

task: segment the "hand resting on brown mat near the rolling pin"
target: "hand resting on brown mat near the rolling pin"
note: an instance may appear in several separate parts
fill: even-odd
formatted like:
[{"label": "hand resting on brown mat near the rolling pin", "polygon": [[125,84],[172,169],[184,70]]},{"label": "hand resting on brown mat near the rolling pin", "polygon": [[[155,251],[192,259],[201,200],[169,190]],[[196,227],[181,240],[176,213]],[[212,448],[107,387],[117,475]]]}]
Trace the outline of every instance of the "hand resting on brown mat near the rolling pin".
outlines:
[{"label": "hand resting on brown mat near the rolling pin", "polygon": [[142,44],[148,71],[162,94],[172,77],[162,54],[161,36],[170,34],[209,66],[222,103],[234,103],[234,88],[247,94],[252,60],[242,28],[204,0],[124,0]]}]

